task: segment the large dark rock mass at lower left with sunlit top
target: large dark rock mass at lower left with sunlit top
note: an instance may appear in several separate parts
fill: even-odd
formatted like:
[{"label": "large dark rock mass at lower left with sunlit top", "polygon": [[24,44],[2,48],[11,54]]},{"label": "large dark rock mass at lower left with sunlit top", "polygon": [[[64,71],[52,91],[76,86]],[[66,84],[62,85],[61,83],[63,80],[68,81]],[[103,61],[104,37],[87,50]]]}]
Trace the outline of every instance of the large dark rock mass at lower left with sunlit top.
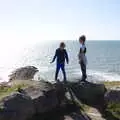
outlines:
[{"label": "large dark rock mass at lower left with sunlit top", "polygon": [[[56,108],[59,104],[57,90],[51,83],[40,81],[35,86],[18,89],[0,103],[0,120],[26,120]],[[60,94],[60,92],[58,92]],[[59,95],[58,95],[59,96]]]}]

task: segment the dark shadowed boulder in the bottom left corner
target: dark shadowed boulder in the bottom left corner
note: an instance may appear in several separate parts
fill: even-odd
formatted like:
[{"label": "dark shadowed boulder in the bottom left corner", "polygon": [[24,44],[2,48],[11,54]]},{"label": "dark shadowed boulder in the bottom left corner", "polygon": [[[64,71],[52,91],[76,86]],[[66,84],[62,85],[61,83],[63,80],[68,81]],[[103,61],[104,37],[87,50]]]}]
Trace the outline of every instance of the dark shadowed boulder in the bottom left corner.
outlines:
[{"label": "dark shadowed boulder in the bottom left corner", "polygon": [[26,120],[35,114],[32,100],[29,96],[13,93],[2,100],[0,120]]}]

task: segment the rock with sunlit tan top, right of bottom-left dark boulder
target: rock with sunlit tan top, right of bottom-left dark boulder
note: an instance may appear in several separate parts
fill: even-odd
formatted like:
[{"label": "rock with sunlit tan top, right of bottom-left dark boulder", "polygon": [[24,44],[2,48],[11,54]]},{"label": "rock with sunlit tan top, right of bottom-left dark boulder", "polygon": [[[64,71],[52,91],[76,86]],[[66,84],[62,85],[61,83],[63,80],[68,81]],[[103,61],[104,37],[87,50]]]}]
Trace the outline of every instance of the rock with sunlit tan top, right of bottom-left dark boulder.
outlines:
[{"label": "rock with sunlit tan top, right of bottom-left dark boulder", "polygon": [[48,112],[58,105],[56,89],[51,83],[40,81],[36,86],[26,88],[24,91],[31,97],[36,113]]}]

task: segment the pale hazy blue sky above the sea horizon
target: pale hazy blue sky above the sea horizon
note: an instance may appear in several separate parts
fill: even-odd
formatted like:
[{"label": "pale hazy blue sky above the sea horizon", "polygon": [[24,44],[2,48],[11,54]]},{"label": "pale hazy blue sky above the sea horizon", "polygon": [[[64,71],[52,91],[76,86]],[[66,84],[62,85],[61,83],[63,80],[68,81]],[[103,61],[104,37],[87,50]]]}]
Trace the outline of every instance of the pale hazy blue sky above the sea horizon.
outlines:
[{"label": "pale hazy blue sky above the sea horizon", "polygon": [[120,40],[120,0],[0,0],[0,41]]}]

